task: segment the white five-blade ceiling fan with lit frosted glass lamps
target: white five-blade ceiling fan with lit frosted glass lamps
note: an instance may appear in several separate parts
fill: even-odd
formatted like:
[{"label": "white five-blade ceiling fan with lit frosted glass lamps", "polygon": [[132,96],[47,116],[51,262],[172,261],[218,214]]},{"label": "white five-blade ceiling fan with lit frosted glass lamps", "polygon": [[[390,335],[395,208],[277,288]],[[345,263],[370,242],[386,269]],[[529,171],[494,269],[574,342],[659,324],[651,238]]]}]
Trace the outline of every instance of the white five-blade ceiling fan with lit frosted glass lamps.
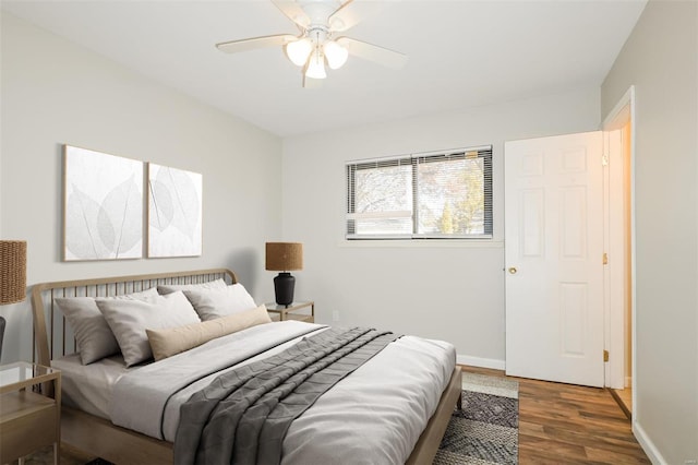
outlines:
[{"label": "white five-blade ceiling fan with lit frosted glass lamps", "polygon": [[286,56],[303,69],[303,86],[315,87],[327,78],[325,63],[341,68],[349,55],[399,69],[407,56],[338,34],[373,15],[380,3],[369,0],[272,0],[300,29],[300,35],[277,34],[216,44],[220,51],[237,53],[264,47],[282,46]]}]

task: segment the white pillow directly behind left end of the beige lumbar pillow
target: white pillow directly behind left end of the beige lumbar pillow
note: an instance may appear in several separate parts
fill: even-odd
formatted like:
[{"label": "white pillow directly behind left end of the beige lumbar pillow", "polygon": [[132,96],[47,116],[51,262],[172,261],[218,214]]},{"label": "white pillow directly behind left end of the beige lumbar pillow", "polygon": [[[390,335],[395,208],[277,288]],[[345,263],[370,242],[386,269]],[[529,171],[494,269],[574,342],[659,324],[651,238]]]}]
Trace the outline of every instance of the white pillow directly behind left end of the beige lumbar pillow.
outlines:
[{"label": "white pillow directly behind left end of the beige lumbar pillow", "polygon": [[183,326],[201,321],[181,290],[158,296],[155,302],[98,300],[97,307],[119,343],[127,367],[153,357],[145,330]]}]

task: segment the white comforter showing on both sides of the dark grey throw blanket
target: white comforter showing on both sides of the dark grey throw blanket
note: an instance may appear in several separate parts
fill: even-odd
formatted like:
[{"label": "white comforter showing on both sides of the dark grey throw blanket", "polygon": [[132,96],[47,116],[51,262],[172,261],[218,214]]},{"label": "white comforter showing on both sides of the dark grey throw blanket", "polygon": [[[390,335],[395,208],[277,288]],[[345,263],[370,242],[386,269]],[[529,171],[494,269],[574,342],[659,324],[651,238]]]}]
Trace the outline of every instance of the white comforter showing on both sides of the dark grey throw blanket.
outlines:
[{"label": "white comforter showing on both sides of the dark grey throw blanket", "polygon": [[[128,372],[113,386],[111,419],[173,441],[180,406],[220,373],[205,375],[208,367],[268,357],[309,329],[325,326],[297,321],[263,324]],[[288,342],[278,345],[282,341]],[[444,342],[404,336],[388,344],[293,421],[284,440],[282,463],[405,463],[436,409],[455,360],[454,347]]]}]

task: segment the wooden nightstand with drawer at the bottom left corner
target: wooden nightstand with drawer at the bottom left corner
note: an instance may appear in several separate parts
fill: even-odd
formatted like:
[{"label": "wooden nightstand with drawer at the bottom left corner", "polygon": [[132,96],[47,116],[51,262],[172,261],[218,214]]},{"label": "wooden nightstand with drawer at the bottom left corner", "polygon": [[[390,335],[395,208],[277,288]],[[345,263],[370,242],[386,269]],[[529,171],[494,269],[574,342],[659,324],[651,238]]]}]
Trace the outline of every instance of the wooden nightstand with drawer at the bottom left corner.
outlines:
[{"label": "wooden nightstand with drawer at the bottom left corner", "polygon": [[[52,386],[50,385],[52,384]],[[34,392],[53,391],[53,397]],[[0,464],[53,444],[53,464],[60,462],[61,373],[20,361],[0,366]]]}]

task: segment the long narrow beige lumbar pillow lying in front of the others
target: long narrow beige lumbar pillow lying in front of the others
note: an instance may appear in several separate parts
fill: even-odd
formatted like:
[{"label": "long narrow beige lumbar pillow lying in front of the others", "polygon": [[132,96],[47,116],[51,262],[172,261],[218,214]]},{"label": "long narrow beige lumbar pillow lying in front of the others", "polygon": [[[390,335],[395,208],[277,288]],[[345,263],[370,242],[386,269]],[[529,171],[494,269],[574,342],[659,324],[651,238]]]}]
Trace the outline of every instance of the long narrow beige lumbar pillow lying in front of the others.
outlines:
[{"label": "long narrow beige lumbar pillow lying in front of the others", "polygon": [[266,307],[261,305],[252,310],[204,321],[202,323],[193,323],[167,330],[145,330],[145,332],[148,335],[155,361],[157,361],[197,347],[217,337],[270,322],[272,319],[266,312]]}]

